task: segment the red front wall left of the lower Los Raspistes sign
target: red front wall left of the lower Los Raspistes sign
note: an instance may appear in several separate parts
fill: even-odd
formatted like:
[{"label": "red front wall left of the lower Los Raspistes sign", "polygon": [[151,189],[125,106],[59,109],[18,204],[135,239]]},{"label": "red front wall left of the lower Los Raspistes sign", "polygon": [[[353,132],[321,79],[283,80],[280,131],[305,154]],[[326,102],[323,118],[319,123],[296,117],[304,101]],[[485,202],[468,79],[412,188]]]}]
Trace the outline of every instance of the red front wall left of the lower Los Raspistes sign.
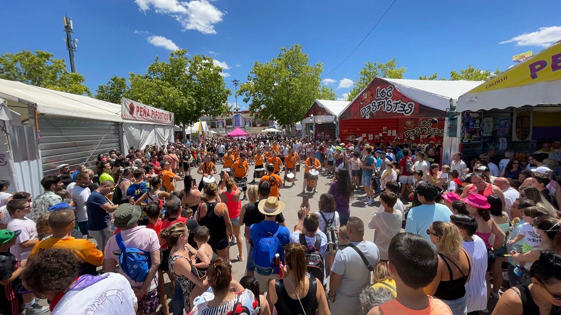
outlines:
[{"label": "red front wall left of the lower Los Raspistes sign", "polygon": [[[386,139],[393,138],[393,136],[388,136],[388,133],[383,133],[384,127],[386,130],[397,130],[399,124],[398,118],[373,118],[373,119],[341,119],[339,121],[339,137],[342,141],[347,140],[349,135],[355,135],[360,137],[362,134],[373,135],[373,140],[375,140],[375,135],[380,133]],[[368,139],[368,138],[366,138]]]}]

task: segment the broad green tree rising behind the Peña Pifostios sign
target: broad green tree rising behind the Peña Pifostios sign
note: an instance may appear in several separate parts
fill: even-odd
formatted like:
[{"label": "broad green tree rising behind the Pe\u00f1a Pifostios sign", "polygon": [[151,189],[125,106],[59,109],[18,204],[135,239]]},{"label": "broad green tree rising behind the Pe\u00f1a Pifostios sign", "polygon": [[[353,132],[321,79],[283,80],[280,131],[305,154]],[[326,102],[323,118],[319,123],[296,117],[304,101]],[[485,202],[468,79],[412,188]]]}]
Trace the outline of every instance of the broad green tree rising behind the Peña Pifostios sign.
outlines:
[{"label": "broad green tree rising behind the Pe\u00f1a Pifostios sign", "polygon": [[187,50],[169,54],[168,62],[155,58],[144,75],[130,73],[126,98],[174,113],[183,126],[204,115],[221,115],[229,110],[231,90],[226,89],[222,68],[204,55],[187,57]]}]

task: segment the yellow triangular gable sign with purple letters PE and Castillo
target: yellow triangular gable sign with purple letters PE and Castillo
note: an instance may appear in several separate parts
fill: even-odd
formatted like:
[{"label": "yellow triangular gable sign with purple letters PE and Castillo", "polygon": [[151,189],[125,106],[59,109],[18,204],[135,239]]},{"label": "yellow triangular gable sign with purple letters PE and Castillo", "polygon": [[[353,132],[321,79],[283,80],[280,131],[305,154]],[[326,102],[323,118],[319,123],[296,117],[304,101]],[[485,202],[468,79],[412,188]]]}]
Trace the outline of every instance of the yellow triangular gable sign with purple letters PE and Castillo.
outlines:
[{"label": "yellow triangular gable sign with purple letters PE and Castillo", "polygon": [[470,93],[554,80],[561,80],[561,40],[541,50],[541,52],[526,59],[526,61],[477,86]]}]

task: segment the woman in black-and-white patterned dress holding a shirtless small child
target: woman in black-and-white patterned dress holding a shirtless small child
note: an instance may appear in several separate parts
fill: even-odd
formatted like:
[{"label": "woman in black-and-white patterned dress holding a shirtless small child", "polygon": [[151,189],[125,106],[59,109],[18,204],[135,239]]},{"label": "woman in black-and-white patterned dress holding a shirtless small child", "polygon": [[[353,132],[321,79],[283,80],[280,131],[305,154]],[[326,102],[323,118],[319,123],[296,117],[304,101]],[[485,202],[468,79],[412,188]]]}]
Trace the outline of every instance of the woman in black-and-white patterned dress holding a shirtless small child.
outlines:
[{"label": "woman in black-and-white patterned dress holding a shirtless small child", "polygon": [[191,297],[191,291],[195,289],[195,285],[203,288],[203,280],[191,271],[190,257],[196,254],[197,250],[187,243],[189,230],[181,222],[174,223],[167,229],[160,231],[160,237],[165,240],[168,246],[172,246],[169,252],[169,271],[181,285],[183,303],[185,304],[185,310],[189,313],[195,299],[195,297]]}]

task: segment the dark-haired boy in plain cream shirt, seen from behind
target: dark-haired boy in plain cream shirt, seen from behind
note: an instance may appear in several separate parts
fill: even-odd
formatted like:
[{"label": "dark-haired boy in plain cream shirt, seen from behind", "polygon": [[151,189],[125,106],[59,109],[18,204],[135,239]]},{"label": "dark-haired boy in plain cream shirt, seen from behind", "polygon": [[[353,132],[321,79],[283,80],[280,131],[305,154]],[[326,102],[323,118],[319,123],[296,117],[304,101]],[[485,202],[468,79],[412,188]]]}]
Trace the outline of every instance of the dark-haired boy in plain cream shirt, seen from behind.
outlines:
[{"label": "dark-haired boy in plain cream shirt, seen from behind", "polygon": [[384,191],[380,194],[381,207],[383,212],[375,213],[368,223],[370,229],[375,229],[374,243],[380,250],[380,261],[388,260],[388,246],[393,236],[399,233],[403,222],[401,211],[393,209],[396,205],[397,196],[390,191]]}]

